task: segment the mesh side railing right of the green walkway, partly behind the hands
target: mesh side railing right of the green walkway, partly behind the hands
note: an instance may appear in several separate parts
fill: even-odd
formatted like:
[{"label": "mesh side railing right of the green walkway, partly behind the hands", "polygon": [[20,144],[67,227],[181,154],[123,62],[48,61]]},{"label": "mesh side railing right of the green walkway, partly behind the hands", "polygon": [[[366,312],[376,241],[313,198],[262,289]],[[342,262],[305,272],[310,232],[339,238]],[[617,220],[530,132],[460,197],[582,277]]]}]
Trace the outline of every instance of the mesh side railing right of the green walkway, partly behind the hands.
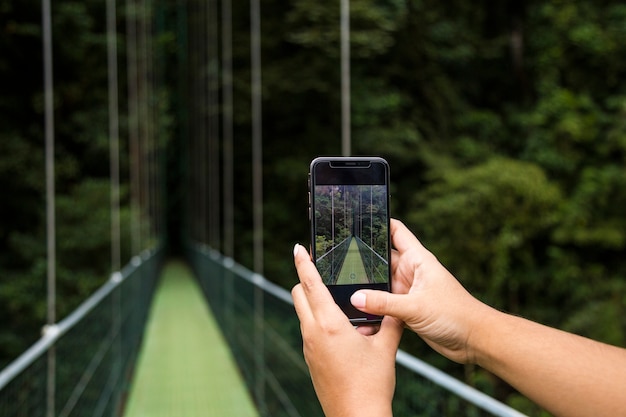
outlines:
[{"label": "mesh side railing right of the green walkway, partly behind the hands", "polygon": [[[323,416],[289,291],[205,246],[188,257],[261,414]],[[396,362],[394,415],[522,416],[406,352]]]}]

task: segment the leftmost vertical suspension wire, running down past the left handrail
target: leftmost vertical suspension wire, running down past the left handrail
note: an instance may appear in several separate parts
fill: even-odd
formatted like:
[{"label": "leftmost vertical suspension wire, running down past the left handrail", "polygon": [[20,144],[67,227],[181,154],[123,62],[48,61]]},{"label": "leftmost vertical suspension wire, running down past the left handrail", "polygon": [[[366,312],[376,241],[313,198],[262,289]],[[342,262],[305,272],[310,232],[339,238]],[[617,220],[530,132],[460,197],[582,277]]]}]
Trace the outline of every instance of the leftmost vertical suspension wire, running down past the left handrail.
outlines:
[{"label": "leftmost vertical suspension wire, running down past the left handrail", "polygon": [[[44,129],[46,152],[47,331],[56,322],[56,213],[54,173],[54,85],[52,79],[52,17],[50,0],[42,0]],[[53,417],[56,397],[56,347],[48,349],[46,416]]]}]

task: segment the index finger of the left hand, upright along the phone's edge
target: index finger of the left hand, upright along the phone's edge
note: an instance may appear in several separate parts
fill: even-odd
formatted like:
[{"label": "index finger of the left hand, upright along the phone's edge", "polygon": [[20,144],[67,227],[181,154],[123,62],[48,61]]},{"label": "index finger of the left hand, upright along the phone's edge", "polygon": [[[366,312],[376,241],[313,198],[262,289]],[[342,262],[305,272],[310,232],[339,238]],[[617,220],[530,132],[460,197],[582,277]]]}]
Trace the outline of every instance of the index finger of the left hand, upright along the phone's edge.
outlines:
[{"label": "index finger of the left hand, upright along the phone's edge", "polygon": [[338,312],[343,315],[304,246],[294,247],[294,263],[313,316],[331,317]]}]

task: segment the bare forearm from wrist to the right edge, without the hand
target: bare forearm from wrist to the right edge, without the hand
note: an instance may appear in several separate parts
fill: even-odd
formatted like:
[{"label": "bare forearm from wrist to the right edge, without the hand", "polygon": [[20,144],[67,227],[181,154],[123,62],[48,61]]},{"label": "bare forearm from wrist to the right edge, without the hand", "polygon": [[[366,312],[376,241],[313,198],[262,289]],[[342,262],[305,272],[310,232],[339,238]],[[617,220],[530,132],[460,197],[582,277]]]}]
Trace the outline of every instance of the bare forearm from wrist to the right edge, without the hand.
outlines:
[{"label": "bare forearm from wrist to the right edge, without the hand", "polygon": [[626,415],[626,350],[492,311],[475,361],[560,416]]}]

